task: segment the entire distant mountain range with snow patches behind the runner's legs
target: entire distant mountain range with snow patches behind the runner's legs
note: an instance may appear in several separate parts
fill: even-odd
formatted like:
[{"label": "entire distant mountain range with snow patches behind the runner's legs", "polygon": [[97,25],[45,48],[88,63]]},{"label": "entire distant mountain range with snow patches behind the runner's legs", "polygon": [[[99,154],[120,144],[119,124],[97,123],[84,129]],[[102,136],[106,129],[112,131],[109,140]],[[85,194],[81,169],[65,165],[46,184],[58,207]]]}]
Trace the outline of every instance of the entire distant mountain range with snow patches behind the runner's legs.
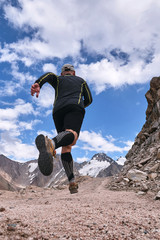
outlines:
[{"label": "entire distant mountain range with snow patches behind the runner's legs", "polygon": [[[121,161],[119,161],[121,162]],[[74,171],[77,177],[108,177],[117,174],[122,168],[117,162],[105,153],[95,154],[89,162],[74,162]],[[54,158],[54,168],[50,176],[41,174],[37,160],[16,162],[4,155],[0,155],[0,189],[18,190],[26,186],[58,187],[67,184],[60,155]]]}]

